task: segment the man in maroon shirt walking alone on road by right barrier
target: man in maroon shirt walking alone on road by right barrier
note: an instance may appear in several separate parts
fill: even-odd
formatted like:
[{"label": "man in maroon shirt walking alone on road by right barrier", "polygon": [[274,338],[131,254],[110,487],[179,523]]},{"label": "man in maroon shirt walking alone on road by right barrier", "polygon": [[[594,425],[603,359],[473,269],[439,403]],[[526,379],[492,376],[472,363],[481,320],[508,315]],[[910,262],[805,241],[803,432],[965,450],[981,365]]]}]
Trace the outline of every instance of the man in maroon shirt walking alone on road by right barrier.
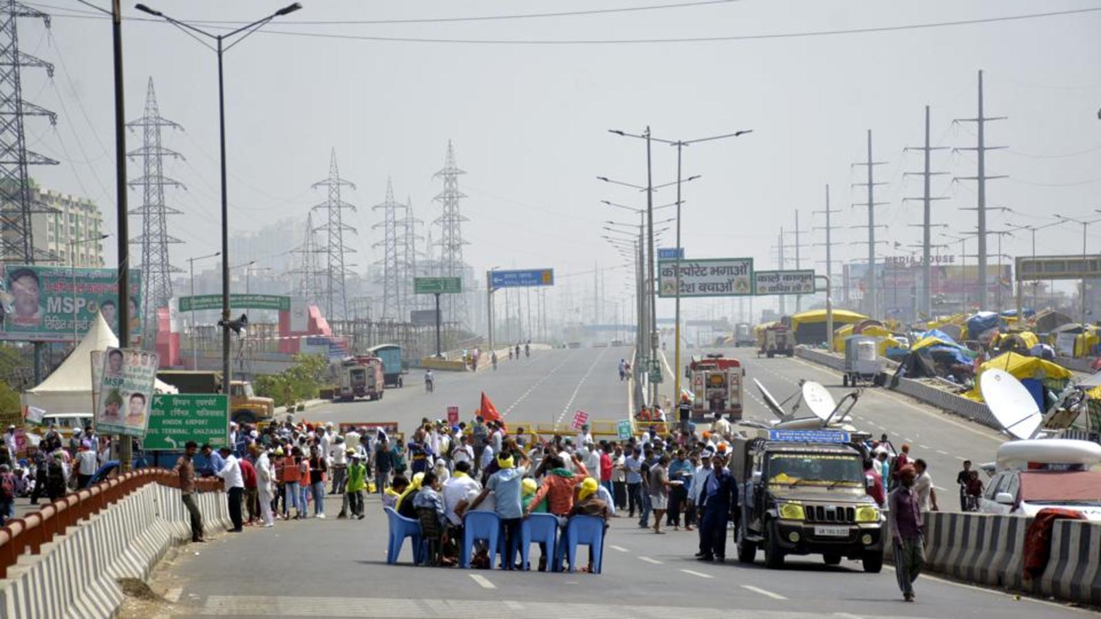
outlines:
[{"label": "man in maroon shirt walking alone on road by right barrier", "polygon": [[895,576],[906,601],[914,601],[914,580],[925,566],[925,523],[914,492],[917,471],[912,466],[898,469],[898,487],[887,498],[887,524],[894,549]]}]

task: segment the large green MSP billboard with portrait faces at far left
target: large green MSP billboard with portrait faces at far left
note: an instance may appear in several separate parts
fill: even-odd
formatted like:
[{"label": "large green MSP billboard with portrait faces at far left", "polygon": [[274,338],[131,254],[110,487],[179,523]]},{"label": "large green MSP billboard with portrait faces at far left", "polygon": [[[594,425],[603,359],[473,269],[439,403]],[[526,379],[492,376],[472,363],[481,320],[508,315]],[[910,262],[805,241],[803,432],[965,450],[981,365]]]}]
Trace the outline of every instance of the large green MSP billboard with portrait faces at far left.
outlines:
[{"label": "large green MSP billboard with portrait faces at far left", "polygon": [[[8,264],[3,267],[4,303],[0,304],[0,339],[73,341],[88,332],[101,313],[119,332],[119,285],[115,269],[70,269]],[[130,272],[130,335],[140,336],[141,273]]]}]

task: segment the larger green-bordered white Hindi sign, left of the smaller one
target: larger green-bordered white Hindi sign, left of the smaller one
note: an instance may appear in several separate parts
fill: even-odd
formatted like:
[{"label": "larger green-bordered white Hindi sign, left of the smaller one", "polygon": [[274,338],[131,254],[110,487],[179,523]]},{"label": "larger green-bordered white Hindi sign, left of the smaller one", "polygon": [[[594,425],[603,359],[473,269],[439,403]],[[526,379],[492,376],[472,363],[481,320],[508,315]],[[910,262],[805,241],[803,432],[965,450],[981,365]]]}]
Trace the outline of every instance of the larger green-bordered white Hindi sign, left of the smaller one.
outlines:
[{"label": "larger green-bordered white Hindi sign, left of the smaller one", "polygon": [[[752,258],[680,260],[680,296],[750,296],[753,294]],[[657,263],[657,292],[677,296],[677,261]]]}]

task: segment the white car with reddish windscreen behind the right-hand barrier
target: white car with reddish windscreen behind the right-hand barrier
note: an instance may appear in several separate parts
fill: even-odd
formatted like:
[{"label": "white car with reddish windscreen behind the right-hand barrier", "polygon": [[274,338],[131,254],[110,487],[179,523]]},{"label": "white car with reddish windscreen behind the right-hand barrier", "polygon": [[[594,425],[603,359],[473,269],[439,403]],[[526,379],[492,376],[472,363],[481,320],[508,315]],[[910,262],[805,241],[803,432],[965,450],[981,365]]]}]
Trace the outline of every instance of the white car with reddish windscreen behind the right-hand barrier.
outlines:
[{"label": "white car with reddish windscreen behind the right-hand barrier", "polygon": [[1033,517],[1044,508],[1081,512],[1101,522],[1101,470],[1000,470],[991,478],[979,511]]}]

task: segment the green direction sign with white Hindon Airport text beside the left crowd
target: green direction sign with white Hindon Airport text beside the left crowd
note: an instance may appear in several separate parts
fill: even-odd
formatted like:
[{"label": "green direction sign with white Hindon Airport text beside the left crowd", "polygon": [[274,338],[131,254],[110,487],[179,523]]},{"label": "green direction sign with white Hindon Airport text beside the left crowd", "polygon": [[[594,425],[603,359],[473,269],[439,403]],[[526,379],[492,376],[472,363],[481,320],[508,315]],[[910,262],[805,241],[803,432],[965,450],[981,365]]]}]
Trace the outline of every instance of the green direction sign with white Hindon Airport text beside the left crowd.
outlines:
[{"label": "green direction sign with white Hindon Airport text beside the left crowd", "polygon": [[168,393],[153,397],[142,448],[183,450],[194,441],[218,448],[229,445],[229,399],[214,393]]}]

